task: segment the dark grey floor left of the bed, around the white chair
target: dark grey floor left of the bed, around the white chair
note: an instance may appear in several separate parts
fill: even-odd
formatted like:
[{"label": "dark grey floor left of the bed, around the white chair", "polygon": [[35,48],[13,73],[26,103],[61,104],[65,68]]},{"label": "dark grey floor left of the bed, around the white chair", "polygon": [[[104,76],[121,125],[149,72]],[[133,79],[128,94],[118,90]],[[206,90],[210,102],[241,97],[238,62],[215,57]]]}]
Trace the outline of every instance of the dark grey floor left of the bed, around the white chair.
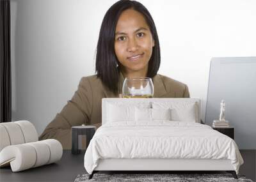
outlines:
[{"label": "dark grey floor left of the bed, around the white chair", "polygon": [[74,181],[84,169],[84,151],[72,155],[71,150],[64,150],[61,160],[20,172],[12,172],[11,167],[0,168],[0,181]]}]

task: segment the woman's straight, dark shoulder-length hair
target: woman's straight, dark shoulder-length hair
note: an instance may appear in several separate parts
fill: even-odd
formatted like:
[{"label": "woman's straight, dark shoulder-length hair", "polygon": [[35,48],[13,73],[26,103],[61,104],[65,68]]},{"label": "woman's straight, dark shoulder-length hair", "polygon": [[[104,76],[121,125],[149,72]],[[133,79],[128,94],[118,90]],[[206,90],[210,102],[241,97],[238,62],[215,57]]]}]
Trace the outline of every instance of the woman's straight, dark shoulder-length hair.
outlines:
[{"label": "woman's straight, dark shoulder-length hair", "polygon": [[118,80],[120,74],[120,66],[115,54],[115,30],[117,21],[124,10],[133,9],[140,12],[145,18],[148,27],[154,39],[154,47],[152,56],[148,61],[147,77],[154,77],[160,66],[160,47],[157,36],[156,26],[149,11],[143,4],[137,1],[121,0],[113,4],[106,12],[100,27],[99,40],[96,54],[96,70],[97,77],[102,83],[108,87],[113,93],[118,93]]}]

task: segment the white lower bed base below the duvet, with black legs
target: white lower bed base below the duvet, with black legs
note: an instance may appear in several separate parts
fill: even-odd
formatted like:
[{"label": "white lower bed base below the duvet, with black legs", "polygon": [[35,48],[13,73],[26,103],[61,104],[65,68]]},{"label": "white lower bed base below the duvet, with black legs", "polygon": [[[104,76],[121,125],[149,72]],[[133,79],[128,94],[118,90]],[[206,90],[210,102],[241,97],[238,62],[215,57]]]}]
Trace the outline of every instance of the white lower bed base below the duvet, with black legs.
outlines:
[{"label": "white lower bed base below the duvet, with black legs", "polygon": [[90,174],[89,179],[92,179],[93,174],[97,172],[122,172],[122,173],[186,173],[193,172],[214,172],[226,171],[231,173],[237,179],[236,171],[230,160],[210,160],[210,159],[124,159],[124,158],[109,158],[99,160],[97,167]]}]

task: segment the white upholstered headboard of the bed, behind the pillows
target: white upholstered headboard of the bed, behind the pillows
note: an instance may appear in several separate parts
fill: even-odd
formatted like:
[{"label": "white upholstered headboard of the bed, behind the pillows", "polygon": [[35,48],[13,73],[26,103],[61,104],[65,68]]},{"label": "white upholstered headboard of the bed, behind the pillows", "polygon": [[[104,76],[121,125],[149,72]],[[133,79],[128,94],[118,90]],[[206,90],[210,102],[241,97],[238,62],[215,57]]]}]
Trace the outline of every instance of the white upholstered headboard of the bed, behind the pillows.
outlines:
[{"label": "white upholstered headboard of the bed, behind the pillows", "polygon": [[201,123],[201,100],[200,98],[102,98],[102,125],[107,123],[108,105],[138,106],[148,105],[149,108],[161,108],[162,105],[171,105],[173,108],[180,105],[195,104],[196,123]]}]

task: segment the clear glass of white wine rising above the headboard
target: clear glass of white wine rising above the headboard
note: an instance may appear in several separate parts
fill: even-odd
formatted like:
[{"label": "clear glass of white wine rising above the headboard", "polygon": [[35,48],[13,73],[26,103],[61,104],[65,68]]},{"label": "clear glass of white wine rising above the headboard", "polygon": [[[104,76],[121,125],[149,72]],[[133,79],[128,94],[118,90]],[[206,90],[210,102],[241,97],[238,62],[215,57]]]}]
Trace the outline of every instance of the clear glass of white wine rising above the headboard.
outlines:
[{"label": "clear glass of white wine rising above the headboard", "polygon": [[152,98],[154,85],[149,77],[127,77],[122,91],[123,98]]}]

